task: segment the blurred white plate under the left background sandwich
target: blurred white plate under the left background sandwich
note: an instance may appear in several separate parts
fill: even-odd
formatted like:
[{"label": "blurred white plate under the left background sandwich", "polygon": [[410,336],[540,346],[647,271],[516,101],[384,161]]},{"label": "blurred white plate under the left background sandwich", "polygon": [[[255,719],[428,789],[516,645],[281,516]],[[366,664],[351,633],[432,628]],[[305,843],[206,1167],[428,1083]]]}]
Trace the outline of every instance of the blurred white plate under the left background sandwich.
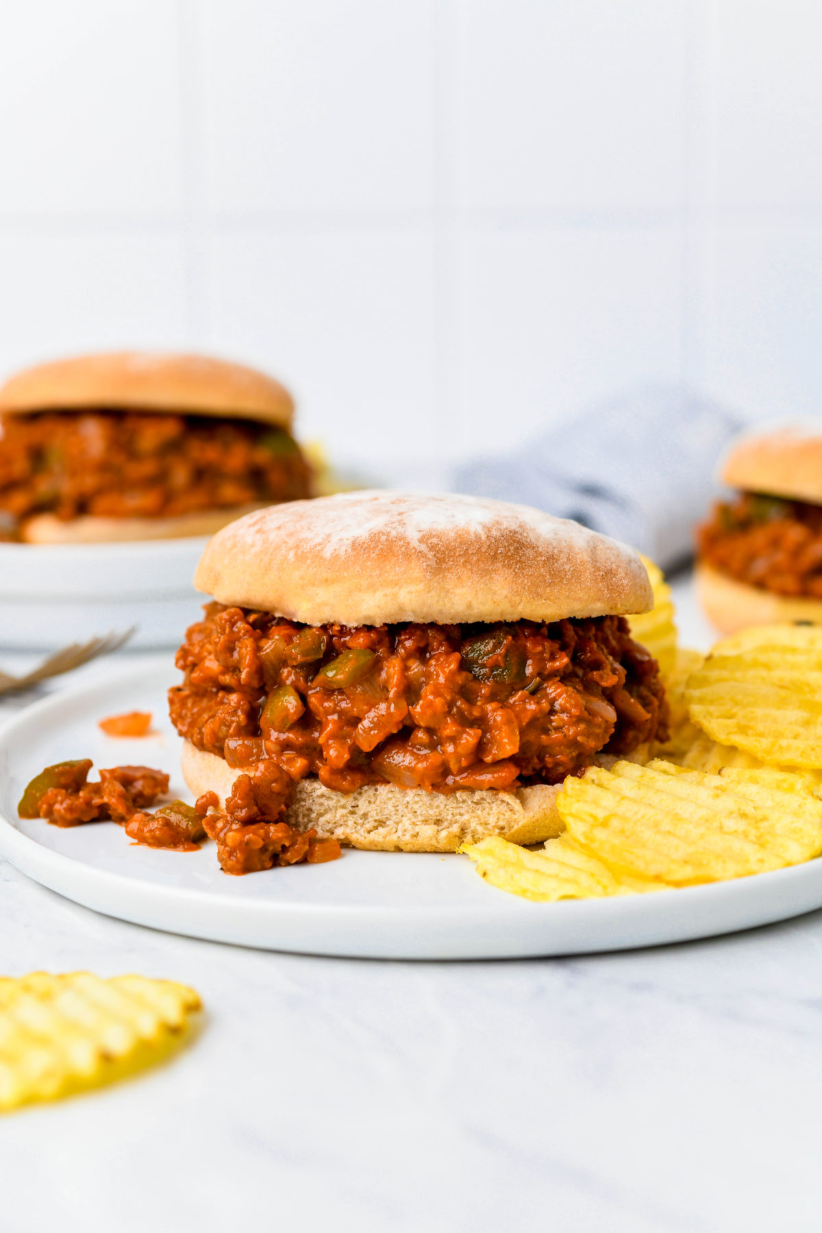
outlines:
[{"label": "blurred white plate under the left background sandwich", "polygon": [[49,650],[134,625],[132,649],[177,646],[205,599],[191,580],[207,543],[0,544],[0,644]]}]

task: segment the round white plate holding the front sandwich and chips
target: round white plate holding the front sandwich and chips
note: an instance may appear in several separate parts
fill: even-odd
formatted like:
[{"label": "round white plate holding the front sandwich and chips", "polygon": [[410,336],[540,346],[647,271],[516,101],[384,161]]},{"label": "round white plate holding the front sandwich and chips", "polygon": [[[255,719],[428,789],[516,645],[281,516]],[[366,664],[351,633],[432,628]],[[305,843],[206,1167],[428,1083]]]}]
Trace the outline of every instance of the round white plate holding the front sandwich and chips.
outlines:
[{"label": "round white plate holding the front sandwich and chips", "polygon": [[[488,887],[461,856],[345,851],[340,861],[230,878],[214,847],[153,851],[97,822],[59,830],[17,819],[44,766],[92,757],[142,762],[180,778],[179,737],[165,719],[169,661],[112,673],[15,718],[0,734],[0,851],[79,904],[174,933],[309,954],[387,959],[497,959],[656,946],[733,932],[822,906],[822,861],[737,882],[620,899],[532,904]],[[115,740],[105,715],[152,710],[157,736]]]}]

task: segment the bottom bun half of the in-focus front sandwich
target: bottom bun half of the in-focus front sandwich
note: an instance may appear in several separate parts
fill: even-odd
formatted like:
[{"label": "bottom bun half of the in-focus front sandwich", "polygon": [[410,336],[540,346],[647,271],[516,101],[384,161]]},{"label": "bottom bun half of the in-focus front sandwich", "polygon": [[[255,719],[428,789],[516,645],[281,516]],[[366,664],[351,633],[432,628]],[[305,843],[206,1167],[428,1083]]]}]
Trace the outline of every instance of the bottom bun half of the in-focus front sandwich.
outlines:
[{"label": "bottom bun half of the in-focus front sandwich", "polygon": [[[180,757],[182,778],[195,797],[216,792],[221,805],[243,774],[190,741]],[[456,852],[498,835],[513,843],[541,843],[564,829],[557,811],[561,784],[516,792],[455,792],[447,797],[421,788],[370,783],[345,794],[301,779],[286,821],[299,831],[312,826],[322,840],[370,852]]]}]

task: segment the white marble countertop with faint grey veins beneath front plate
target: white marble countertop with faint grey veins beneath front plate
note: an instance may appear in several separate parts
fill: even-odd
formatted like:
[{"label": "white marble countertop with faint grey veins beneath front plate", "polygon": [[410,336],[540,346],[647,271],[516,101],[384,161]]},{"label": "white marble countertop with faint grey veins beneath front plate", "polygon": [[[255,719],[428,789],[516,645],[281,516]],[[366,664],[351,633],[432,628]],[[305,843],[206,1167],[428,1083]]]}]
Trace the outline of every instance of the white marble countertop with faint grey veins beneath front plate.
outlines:
[{"label": "white marble countertop with faint grey veins beneath front plate", "polygon": [[0,938],[4,973],[134,970],[207,1007],[170,1065],[0,1122],[9,1233],[822,1227],[822,912],[608,956],[318,959],[97,916],[0,862]]}]

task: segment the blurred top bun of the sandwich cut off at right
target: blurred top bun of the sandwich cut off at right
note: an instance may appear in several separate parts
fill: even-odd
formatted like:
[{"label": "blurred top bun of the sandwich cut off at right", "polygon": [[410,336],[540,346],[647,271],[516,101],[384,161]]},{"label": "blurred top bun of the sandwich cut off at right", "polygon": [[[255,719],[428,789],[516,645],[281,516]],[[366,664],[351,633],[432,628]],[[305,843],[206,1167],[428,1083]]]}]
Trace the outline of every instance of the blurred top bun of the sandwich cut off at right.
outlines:
[{"label": "blurred top bun of the sandwich cut off at right", "polygon": [[731,445],[721,477],[744,492],[822,504],[822,420],[746,433]]}]

